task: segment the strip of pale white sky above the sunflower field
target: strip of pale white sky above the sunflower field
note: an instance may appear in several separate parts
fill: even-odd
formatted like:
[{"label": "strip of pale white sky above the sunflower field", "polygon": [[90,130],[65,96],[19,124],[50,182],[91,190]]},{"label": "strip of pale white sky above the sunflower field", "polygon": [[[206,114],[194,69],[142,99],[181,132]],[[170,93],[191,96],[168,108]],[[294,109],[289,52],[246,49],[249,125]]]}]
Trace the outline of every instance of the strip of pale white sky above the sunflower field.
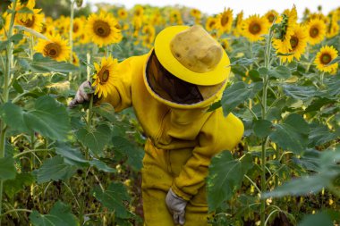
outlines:
[{"label": "strip of pale white sky above the sunflower field", "polygon": [[181,4],[192,8],[197,8],[203,13],[214,14],[222,13],[224,8],[230,7],[234,13],[243,10],[244,16],[254,13],[263,15],[268,10],[274,9],[282,13],[287,8],[296,5],[299,17],[306,7],[312,12],[316,12],[318,5],[322,5],[322,13],[336,9],[340,6],[339,0],[84,0],[84,3],[111,3],[123,4],[126,8],[132,8],[134,4],[151,4],[155,6],[165,6]]}]

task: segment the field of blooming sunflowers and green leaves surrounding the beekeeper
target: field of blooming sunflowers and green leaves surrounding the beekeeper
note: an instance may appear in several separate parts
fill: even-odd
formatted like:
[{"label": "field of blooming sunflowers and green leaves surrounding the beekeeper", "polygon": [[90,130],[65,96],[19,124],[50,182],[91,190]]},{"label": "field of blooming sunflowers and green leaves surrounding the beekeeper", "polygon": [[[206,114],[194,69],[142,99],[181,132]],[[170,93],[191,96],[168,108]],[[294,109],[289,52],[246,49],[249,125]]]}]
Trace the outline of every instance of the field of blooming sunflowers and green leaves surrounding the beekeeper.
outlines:
[{"label": "field of blooming sunflowers and green leaves surrounding the beekeeper", "polygon": [[[93,96],[69,107],[90,80],[107,96],[117,63],[147,54],[170,25],[200,24],[225,48],[231,75],[222,107],[245,127],[207,177],[211,225],[340,223],[340,7],[294,5],[244,17],[182,6],[84,7],[47,16],[11,0],[0,16],[0,225],[143,225],[145,134],[131,108]],[[228,131],[220,131],[221,133]],[[161,224],[159,224],[161,225]]]}]

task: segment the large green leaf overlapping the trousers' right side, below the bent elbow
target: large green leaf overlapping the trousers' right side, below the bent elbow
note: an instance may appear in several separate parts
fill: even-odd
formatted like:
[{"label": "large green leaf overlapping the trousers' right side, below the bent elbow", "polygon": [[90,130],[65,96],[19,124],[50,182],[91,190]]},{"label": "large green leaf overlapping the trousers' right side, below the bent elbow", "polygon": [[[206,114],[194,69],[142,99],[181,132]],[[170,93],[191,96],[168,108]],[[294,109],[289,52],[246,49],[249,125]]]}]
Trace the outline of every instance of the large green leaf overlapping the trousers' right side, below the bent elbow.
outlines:
[{"label": "large green leaf overlapping the trousers' right side, below the bent elbow", "polygon": [[252,167],[251,155],[234,159],[228,152],[213,157],[208,172],[208,208],[214,211],[226,200],[234,196],[234,191],[241,187],[244,174]]}]

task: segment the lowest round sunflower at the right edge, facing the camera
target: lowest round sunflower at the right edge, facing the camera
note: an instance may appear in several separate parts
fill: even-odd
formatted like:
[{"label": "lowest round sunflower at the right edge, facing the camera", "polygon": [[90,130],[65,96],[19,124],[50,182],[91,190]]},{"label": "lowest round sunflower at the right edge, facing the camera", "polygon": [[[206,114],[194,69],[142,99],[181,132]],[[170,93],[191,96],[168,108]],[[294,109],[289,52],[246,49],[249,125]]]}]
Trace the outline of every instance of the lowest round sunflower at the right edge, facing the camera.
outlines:
[{"label": "lowest round sunflower at the right edge, facing the camera", "polygon": [[317,65],[319,71],[335,73],[338,64],[331,62],[336,59],[336,57],[337,50],[334,46],[323,46],[315,57],[314,63]]}]

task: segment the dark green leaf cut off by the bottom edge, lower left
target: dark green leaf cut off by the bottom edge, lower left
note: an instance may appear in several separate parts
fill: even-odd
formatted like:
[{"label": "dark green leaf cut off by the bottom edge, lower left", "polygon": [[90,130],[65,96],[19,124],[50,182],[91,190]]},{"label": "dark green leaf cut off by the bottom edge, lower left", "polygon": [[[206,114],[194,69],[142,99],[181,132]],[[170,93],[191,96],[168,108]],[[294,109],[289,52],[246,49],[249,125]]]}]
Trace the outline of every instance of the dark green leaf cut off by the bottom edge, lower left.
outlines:
[{"label": "dark green leaf cut off by the bottom edge, lower left", "polygon": [[72,214],[71,207],[58,201],[50,213],[44,215],[33,210],[30,222],[34,226],[79,226],[77,218]]}]

